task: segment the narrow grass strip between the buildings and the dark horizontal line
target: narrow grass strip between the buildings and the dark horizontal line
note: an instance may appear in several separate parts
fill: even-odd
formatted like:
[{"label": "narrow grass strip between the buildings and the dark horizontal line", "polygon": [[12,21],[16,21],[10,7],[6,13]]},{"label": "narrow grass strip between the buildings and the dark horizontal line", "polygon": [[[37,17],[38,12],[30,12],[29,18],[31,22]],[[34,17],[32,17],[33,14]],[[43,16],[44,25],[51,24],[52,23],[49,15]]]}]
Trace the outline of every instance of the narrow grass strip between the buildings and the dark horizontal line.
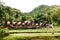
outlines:
[{"label": "narrow grass strip between the buildings and the dark horizontal line", "polygon": [[17,29],[17,30],[9,30],[9,33],[51,33],[51,32],[60,32],[60,27],[54,28],[41,28],[41,29]]}]

